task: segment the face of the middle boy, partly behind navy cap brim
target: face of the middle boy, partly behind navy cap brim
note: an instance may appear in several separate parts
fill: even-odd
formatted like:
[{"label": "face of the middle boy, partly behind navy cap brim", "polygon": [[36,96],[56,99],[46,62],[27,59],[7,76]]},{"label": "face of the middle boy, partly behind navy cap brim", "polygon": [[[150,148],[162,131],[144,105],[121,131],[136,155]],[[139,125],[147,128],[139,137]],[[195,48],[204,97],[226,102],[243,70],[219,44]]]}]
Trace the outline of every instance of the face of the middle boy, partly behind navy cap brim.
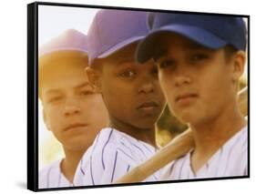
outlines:
[{"label": "face of the middle boy, partly behind navy cap brim", "polygon": [[100,71],[102,92],[110,119],[133,128],[152,128],[165,105],[153,61],[138,66],[137,44],[104,59]]}]

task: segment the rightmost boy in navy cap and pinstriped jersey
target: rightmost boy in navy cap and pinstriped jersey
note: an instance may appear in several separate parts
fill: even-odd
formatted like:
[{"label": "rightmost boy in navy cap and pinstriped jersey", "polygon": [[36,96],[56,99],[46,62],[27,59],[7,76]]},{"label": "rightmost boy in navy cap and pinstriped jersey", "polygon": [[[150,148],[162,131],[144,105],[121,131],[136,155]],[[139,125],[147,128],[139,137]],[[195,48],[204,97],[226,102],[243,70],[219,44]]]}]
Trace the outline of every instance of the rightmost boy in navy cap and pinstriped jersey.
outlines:
[{"label": "rightmost boy in navy cap and pinstriped jersey", "polygon": [[154,58],[172,112],[189,124],[195,148],[163,179],[248,175],[248,128],[237,102],[246,61],[246,27],[228,15],[148,15],[151,32],[137,59]]}]

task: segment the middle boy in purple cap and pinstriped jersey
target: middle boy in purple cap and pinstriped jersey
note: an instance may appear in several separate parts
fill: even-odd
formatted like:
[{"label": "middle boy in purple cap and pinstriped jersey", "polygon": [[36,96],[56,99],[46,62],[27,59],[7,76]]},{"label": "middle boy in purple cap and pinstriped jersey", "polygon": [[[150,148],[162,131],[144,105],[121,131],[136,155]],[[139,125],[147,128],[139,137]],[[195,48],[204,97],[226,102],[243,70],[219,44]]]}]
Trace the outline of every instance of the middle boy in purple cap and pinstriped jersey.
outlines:
[{"label": "middle boy in purple cap and pinstriped jersey", "polygon": [[[74,184],[110,184],[156,152],[155,123],[165,99],[157,66],[137,66],[138,41],[147,35],[147,13],[101,10],[88,31],[87,75],[101,92],[110,123],[77,168]],[[147,181],[158,180],[158,173]]]}]

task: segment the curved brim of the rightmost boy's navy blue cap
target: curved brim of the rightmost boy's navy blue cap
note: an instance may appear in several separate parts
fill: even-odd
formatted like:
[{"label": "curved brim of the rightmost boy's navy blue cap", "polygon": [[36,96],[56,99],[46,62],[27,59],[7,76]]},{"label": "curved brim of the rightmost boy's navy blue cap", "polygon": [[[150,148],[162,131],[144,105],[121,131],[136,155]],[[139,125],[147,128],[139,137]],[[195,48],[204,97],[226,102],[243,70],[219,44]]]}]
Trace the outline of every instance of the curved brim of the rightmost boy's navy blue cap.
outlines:
[{"label": "curved brim of the rightmost boy's navy blue cap", "polygon": [[227,42],[210,32],[195,26],[170,25],[163,26],[152,31],[138,45],[136,58],[138,63],[145,63],[154,56],[156,49],[159,47],[158,39],[161,33],[175,33],[185,36],[190,40],[212,49],[218,49],[227,45]]}]

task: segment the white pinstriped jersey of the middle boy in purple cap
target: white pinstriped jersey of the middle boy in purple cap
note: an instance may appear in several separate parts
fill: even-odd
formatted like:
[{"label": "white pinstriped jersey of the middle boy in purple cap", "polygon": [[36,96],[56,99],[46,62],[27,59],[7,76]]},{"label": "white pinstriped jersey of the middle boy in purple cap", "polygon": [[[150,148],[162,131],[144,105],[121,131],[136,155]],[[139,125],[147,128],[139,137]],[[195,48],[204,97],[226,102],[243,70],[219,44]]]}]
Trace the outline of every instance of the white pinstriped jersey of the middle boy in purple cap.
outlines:
[{"label": "white pinstriped jersey of the middle boy in purple cap", "polygon": [[[113,128],[103,128],[80,160],[75,186],[110,184],[156,153],[156,148]],[[159,171],[145,181],[159,180]]]}]

